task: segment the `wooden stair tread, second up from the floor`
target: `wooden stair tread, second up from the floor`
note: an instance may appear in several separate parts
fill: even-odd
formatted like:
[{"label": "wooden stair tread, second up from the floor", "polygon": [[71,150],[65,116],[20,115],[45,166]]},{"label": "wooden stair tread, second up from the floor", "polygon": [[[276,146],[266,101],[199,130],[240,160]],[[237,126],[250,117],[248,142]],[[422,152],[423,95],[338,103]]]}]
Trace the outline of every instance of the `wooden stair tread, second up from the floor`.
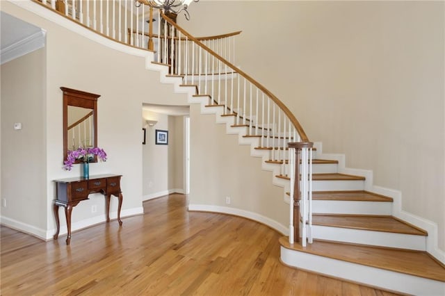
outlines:
[{"label": "wooden stair tread, second up from the floor", "polygon": [[383,231],[391,233],[404,233],[416,236],[427,236],[426,231],[412,227],[392,216],[378,215],[312,215],[312,224],[327,227],[341,227],[362,229],[369,231]]}]

